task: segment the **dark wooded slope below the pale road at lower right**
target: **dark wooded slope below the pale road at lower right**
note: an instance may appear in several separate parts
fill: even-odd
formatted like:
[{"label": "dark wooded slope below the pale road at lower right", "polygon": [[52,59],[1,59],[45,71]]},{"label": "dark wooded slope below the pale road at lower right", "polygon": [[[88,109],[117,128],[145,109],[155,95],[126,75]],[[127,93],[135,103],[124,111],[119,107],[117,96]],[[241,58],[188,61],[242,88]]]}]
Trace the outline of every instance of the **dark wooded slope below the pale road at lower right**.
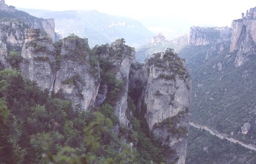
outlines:
[{"label": "dark wooded slope below the pale road at lower right", "polygon": [[255,163],[256,152],[190,126],[186,163]]}]

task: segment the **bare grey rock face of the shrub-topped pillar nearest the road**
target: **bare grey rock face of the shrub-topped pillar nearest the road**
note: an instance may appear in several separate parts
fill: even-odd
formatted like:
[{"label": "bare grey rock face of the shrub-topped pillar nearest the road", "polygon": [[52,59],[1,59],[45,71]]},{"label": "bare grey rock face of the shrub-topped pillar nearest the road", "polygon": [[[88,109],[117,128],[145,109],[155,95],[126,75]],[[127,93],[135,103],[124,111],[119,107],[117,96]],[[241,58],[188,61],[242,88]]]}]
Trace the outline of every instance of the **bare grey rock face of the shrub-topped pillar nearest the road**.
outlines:
[{"label": "bare grey rock face of the shrub-topped pillar nearest the road", "polygon": [[[165,52],[163,61],[166,61],[167,55]],[[182,61],[179,62],[181,66],[184,65]],[[163,66],[169,67],[171,63],[165,64]],[[172,68],[161,67],[157,66],[157,63],[150,66],[144,99],[147,104],[146,119],[150,130],[160,138],[162,144],[177,152],[177,163],[184,163],[189,125],[190,78],[184,68],[178,68],[179,73],[174,70],[170,73]],[[173,157],[167,155],[167,163],[173,161]]]}]

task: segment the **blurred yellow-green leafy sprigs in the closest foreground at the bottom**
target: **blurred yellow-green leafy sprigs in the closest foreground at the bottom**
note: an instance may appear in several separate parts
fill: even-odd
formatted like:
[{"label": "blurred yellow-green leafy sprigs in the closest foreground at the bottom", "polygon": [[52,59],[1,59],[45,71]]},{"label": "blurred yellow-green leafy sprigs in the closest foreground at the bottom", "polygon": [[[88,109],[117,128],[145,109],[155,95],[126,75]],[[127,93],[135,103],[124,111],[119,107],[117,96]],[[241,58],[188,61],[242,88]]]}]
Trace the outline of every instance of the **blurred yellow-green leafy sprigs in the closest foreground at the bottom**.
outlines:
[{"label": "blurred yellow-green leafy sprigs in the closest foreground at the bottom", "polygon": [[[85,127],[85,150],[81,153],[75,148],[65,146],[53,154],[51,152],[51,136],[49,134],[39,136],[37,138],[43,148],[43,161],[46,163],[131,163],[134,160],[133,149],[126,144],[123,144],[122,150],[115,156],[104,158],[102,154],[98,154],[102,145],[102,134],[106,133],[112,123],[110,119],[105,119],[104,116],[95,112],[95,120],[91,121],[87,127]],[[37,140],[32,140],[37,142]]]}]

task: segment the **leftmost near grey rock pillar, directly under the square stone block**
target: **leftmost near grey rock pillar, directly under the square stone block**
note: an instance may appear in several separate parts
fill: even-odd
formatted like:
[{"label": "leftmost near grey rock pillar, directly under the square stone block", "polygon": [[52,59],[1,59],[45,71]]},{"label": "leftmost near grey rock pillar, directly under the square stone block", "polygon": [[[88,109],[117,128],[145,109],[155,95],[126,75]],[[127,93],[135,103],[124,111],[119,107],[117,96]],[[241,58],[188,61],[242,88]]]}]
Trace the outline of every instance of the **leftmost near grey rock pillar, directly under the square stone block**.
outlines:
[{"label": "leftmost near grey rock pillar, directly under the square stone block", "polygon": [[56,49],[50,38],[38,38],[24,43],[20,70],[25,78],[36,81],[41,89],[53,91]]}]

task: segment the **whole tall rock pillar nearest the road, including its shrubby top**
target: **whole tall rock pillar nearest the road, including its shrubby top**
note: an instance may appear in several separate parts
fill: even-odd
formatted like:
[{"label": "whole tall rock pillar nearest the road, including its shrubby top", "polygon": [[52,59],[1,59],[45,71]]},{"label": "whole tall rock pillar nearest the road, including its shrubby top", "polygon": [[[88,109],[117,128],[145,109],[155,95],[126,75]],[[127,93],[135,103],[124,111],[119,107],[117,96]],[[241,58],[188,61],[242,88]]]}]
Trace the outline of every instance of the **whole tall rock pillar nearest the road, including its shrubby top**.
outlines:
[{"label": "whole tall rock pillar nearest the road, including its shrubby top", "polygon": [[191,92],[184,61],[169,50],[154,54],[132,74],[131,86],[141,95],[137,107],[146,106],[151,133],[167,146],[167,163],[184,163]]}]

